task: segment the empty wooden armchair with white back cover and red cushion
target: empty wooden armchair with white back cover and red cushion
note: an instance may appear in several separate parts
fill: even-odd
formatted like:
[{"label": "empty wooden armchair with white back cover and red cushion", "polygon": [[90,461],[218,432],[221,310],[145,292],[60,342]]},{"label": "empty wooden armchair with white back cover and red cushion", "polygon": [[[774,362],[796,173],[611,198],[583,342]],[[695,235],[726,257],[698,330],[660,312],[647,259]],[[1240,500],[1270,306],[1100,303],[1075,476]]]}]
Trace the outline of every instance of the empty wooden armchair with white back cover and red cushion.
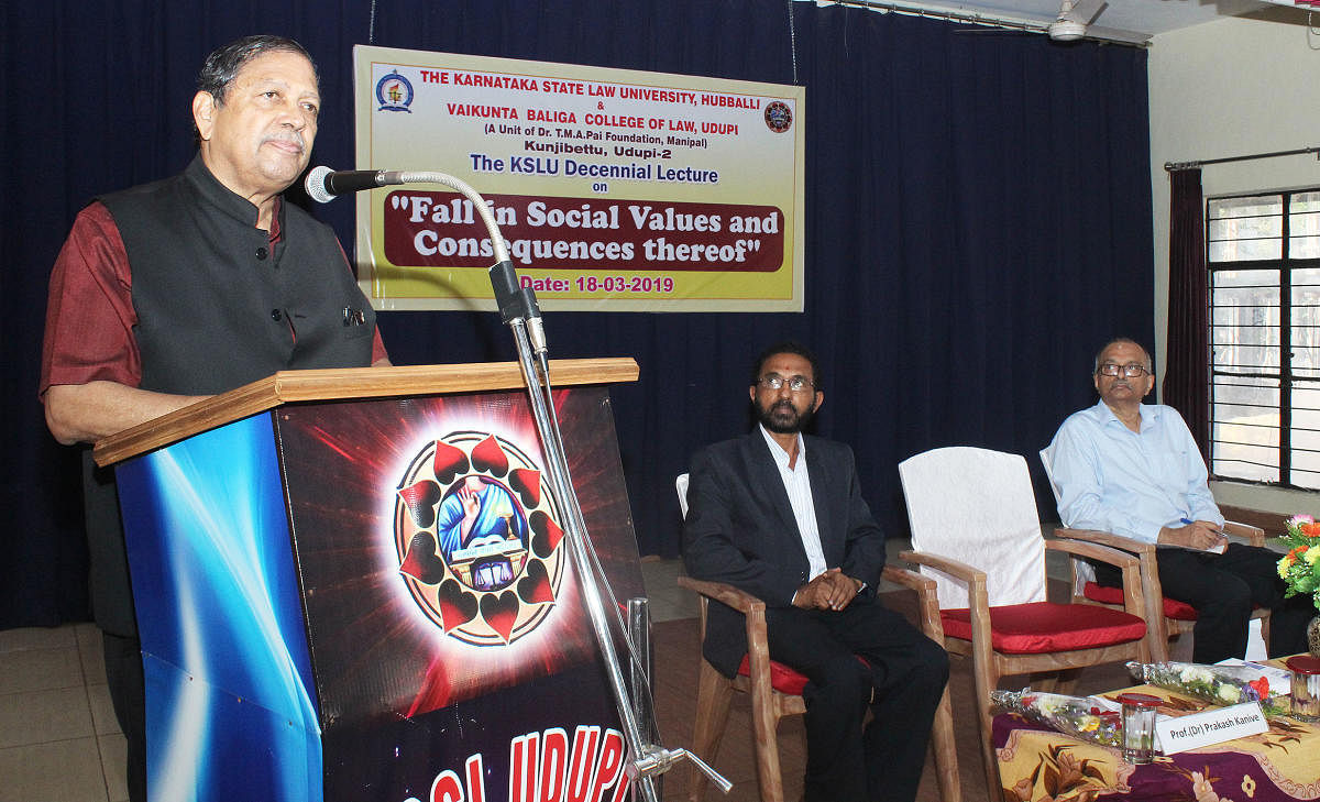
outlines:
[{"label": "empty wooden armchair with white back cover and red cushion", "polygon": [[[913,546],[899,557],[936,580],[942,642],[972,658],[981,757],[990,798],[999,798],[990,691],[1006,674],[1071,678],[1084,666],[1148,662],[1139,561],[1098,543],[1045,541],[1027,462],[1016,454],[936,448],[899,463],[899,478]],[[1118,566],[1123,609],[1049,603],[1047,549]]]}]

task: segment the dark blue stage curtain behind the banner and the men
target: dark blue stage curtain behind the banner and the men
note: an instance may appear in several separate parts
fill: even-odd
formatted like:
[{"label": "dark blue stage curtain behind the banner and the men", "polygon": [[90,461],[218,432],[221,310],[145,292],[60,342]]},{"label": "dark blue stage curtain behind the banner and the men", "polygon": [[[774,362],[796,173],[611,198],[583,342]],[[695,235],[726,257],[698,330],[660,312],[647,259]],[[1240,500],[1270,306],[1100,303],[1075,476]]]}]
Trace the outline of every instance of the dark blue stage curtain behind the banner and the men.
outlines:
[{"label": "dark blue stage curtain behind the banner and the men", "polygon": [[[351,46],[371,32],[381,46],[774,83],[795,82],[796,58],[805,313],[546,319],[557,357],[642,365],[614,413],[643,554],[677,553],[673,476],[698,446],[746,431],[747,363],[774,339],[820,352],[818,431],[854,446],[865,496],[899,534],[899,460],[965,443],[1035,466],[1059,422],[1090,404],[1096,347],[1152,339],[1142,50],[783,0],[48,0],[0,15],[0,297],[15,377],[0,628],[86,615],[77,459],[45,431],[36,393],[50,264],[90,198],[186,165],[197,67],[247,33],[293,36],[318,59],[314,162],[335,168],[352,164]],[[426,166],[457,170],[462,157],[438,142]],[[352,248],[351,203],[315,214]],[[384,313],[380,326],[397,364],[512,356],[492,314]]]}]

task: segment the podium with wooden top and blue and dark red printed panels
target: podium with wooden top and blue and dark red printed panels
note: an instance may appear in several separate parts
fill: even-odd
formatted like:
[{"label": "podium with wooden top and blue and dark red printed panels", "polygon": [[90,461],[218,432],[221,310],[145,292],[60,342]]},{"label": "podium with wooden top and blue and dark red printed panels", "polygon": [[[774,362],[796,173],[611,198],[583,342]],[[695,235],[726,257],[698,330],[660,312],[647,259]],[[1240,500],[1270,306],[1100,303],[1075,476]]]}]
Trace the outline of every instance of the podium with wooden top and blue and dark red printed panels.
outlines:
[{"label": "podium with wooden top and blue and dark red printed panels", "polygon": [[[557,360],[569,470],[643,595],[605,385]],[[619,799],[624,744],[515,363],[276,373],[115,464],[152,799]]]}]

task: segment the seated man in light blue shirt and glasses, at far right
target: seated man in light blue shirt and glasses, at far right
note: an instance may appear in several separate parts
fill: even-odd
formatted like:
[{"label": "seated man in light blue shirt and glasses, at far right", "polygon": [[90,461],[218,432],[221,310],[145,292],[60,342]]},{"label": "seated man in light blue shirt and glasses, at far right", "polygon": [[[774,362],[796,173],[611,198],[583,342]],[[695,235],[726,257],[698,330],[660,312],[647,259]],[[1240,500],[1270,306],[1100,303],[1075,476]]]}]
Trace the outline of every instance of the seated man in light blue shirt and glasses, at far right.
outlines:
[{"label": "seated man in light blue shirt and glasses, at far right", "polygon": [[[1113,340],[1093,380],[1100,402],[1069,416],[1047,450],[1064,525],[1162,546],[1164,595],[1197,611],[1195,662],[1242,657],[1253,604],[1274,609],[1270,654],[1304,652],[1308,598],[1283,599],[1278,554],[1224,537],[1187,423],[1171,406],[1142,404],[1155,386],[1146,350]],[[1096,569],[1098,582],[1118,584],[1117,571]]]}]

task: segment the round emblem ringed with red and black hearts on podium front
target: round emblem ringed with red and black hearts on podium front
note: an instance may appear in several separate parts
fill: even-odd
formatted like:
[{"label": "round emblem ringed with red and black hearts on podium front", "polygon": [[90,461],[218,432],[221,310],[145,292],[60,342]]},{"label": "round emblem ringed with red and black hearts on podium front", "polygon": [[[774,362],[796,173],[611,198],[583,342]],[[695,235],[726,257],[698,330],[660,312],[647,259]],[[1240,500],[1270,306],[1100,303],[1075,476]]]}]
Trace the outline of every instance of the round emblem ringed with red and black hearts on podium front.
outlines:
[{"label": "round emblem ringed with red and black hearts on podium front", "polygon": [[451,637],[511,644],[554,607],[564,576],[558,501],[508,441],[455,431],[422,446],[395,499],[399,572]]}]

